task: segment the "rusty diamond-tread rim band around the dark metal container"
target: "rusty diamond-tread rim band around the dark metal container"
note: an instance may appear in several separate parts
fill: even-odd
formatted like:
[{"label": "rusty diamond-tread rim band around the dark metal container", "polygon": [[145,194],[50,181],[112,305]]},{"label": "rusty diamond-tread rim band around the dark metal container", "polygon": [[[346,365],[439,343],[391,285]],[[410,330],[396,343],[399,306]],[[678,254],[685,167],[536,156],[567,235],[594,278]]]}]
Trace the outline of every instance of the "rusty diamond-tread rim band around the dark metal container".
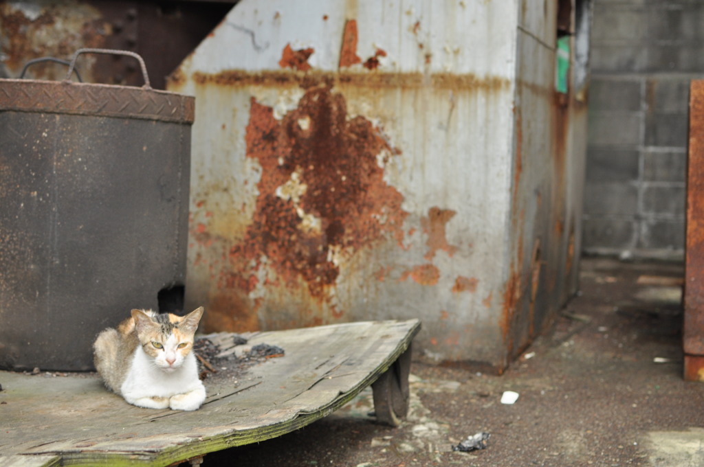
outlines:
[{"label": "rusty diamond-tread rim band around the dark metal container", "polygon": [[113,84],[0,79],[0,112],[8,110],[192,124],[195,98]]}]

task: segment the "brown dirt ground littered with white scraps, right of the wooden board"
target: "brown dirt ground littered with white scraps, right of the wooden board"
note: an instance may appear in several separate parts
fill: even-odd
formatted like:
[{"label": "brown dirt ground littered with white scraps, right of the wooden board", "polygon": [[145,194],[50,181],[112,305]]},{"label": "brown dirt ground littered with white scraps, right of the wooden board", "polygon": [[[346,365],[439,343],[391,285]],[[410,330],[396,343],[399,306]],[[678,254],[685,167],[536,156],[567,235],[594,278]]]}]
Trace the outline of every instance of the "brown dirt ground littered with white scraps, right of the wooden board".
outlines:
[{"label": "brown dirt ground littered with white scraps, right of the wooden board", "polygon": [[[422,362],[410,413],[372,423],[371,393],[203,466],[704,465],[704,384],[681,378],[681,264],[582,260],[580,293],[503,376]],[[504,391],[515,404],[501,404]],[[454,452],[469,435],[488,447]]]}]

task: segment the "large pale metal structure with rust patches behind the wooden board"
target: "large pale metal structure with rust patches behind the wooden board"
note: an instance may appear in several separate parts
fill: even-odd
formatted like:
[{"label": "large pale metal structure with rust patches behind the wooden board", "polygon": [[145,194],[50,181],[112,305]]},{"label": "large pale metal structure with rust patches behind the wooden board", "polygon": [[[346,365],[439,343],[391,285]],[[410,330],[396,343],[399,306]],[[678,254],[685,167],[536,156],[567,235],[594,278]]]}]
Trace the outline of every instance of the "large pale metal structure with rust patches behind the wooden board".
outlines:
[{"label": "large pale metal structure with rust patches behind the wooden board", "polygon": [[168,84],[198,102],[187,306],[232,331],[420,317],[427,357],[501,371],[576,285],[556,15],[241,1]]}]

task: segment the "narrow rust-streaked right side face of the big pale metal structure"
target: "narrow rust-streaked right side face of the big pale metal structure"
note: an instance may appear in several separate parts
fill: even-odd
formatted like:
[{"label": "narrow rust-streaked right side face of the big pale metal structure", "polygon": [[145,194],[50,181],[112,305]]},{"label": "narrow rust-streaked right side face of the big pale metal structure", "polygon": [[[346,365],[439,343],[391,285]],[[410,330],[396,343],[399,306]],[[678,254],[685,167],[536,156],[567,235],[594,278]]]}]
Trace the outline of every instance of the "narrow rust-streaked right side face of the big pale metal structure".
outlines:
[{"label": "narrow rust-streaked right side face of the big pale metal structure", "polygon": [[[538,335],[578,286],[588,95],[584,54],[591,4],[564,0],[544,6],[558,11],[529,0],[520,3],[513,250],[503,309],[510,323],[505,341],[509,356]],[[555,68],[550,66],[555,63],[557,30],[572,37],[567,93],[556,91]]]}]

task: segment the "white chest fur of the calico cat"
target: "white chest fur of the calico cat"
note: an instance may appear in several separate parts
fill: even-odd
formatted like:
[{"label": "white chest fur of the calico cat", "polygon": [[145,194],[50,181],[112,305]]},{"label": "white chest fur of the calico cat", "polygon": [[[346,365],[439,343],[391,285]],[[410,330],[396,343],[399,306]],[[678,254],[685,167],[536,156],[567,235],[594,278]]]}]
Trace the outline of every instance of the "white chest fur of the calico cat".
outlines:
[{"label": "white chest fur of the calico cat", "polygon": [[120,392],[125,398],[172,397],[202,387],[194,354],[188,354],[177,369],[164,371],[154,364],[142,347],[137,347]]}]

